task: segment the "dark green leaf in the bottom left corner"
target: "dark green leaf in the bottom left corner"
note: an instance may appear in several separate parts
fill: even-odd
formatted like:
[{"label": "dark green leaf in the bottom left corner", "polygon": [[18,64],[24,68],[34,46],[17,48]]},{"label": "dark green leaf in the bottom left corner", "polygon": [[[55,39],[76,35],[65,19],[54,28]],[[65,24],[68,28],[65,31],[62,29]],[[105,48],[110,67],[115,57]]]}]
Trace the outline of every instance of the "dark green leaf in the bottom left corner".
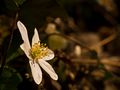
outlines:
[{"label": "dark green leaf in the bottom left corner", "polygon": [[20,82],[22,82],[20,74],[15,69],[5,66],[0,76],[0,90],[17,90]]}]

